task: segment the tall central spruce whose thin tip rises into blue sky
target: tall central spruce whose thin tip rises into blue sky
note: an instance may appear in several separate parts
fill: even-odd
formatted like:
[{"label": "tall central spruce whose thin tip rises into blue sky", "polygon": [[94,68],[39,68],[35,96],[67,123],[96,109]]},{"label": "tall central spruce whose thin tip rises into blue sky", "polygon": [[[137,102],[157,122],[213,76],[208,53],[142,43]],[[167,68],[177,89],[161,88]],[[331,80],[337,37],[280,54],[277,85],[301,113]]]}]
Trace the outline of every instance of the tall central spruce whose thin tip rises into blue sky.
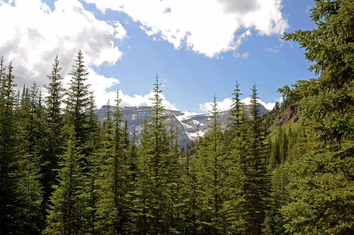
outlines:
[{"label": "tall central spruce whose thin tip rises into blue sky", "polygon": [[153,106],[149,120],[142,122],[144,132],[141,146],[138,148],[138,168],[135,191],[136,195],[136,228],[141,234],[169,234],[172,228],[170,220],[170,189],[169,177],[169,148],[163,114],[164,106],[160,93],[158,76],[154,84],[154,96],[150,98]]}]

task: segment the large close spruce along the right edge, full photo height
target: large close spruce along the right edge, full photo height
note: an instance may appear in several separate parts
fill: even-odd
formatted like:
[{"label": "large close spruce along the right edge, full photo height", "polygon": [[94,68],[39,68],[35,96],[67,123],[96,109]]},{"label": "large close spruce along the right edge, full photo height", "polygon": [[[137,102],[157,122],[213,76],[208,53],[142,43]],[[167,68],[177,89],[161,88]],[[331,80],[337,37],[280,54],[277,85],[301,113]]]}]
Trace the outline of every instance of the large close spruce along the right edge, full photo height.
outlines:
[{"label": "large close spruce along the right edge, full photo height", "polygon": [[298,155],[292,166],[297,172],[289,186],[290,202],[282,208],[285,228],[292,234],[354,233],[354,201],[349,196],[349,165],[354,160],[353,11],[350,0],[315,1],[311,18],[316,28],[284,34],[285,40],[305,48],[305,58],[313,62],[310,70],[321,73],[319,78],[297,81],[291,89],[279,89],[300,100],[308,136],[318,143],[315,151],[310,148]]}]

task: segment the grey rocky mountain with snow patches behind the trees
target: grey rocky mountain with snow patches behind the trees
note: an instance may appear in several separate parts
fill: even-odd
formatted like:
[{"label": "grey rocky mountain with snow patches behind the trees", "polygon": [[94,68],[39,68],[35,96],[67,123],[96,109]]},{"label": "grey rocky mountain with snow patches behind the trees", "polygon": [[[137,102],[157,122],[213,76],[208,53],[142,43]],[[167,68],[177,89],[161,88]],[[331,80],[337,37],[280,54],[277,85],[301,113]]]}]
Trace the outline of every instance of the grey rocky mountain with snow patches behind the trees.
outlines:
[{"label": "grey rocky mountain with snow patches behind the trees", "polygon": [[[104,114],[107,109],[107,105],[103,105],[100,109],[96,109],[96,113],[99,116],[99,120],[102,122],[104,119]],[[246,110],[248,110],[248,105],[246,105]],[[259,111],[261,114],[267,113],[268,110],[261,104],[259,104]],[[153,114],[152,110],[146,109],[144,106],[136,107],[122,107],[122,113],[125,115],[123,119],[127,120],[127,125],[132,135],[133,130],[139,136],[142,125],[139,121],[145,121]],[[207,130],[208,125],[210,125],[211,118],[206,114],[196,114],[188,111],[177,111],[177,110],[165,110],[164,115],[170,115],[165,123],[168,126],[171,124],[171,118],[173,119],[173,125],[177,125],[179,132],[179,144],[185,146],[191,140],[196,140],[197,136],[203,136],[204,131]],[[223,128],[230,123],[228,120],[230,117],[230,111],[222,111],[219,113],[219,123]]]}]

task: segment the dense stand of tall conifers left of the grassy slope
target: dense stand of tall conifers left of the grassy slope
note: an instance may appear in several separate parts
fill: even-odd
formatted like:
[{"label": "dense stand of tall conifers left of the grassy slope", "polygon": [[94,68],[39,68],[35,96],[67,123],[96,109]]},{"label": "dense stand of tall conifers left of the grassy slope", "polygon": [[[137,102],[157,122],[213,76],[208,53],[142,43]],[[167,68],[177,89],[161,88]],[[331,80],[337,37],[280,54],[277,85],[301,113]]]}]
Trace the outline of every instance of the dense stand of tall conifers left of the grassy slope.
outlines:
[{"label": "dense stand of tall conifers left of the grassy slope", "polygon": [[54,59],[47,97],[36,83],[15,92],[3,64],[1,234],[261,233],[271,181],[256,86],[247,116],[236,83],[228,142],[214,97],[209,130],[180,151],[157,75],[153,115],[130,140],[118,93],[98,122],[81,51],[68,90]]}]

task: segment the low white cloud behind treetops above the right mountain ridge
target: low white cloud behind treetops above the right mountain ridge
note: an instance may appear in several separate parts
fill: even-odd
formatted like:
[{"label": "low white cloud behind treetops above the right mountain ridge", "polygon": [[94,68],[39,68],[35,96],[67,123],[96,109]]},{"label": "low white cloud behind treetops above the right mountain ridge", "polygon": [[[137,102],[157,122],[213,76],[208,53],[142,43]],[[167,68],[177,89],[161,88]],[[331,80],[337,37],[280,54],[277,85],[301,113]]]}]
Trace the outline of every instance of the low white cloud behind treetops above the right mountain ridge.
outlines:
[{"label": "low white cloud behind treetops above the right mountain ridge", "polygon": [[[246,105],[249,105],[250,101],[251,101],[250,97],[246,97],[246,98],[241,100],[241,102],[246,104]],[[272,103],[272,102],[265,103],[265,102],[263,102],[260,99],[258,99],[257,101],[258,101],[258,103],[262,104],[266,109],[272,110],[274,108],[275,102],[279,102],[280,103],[282,101],[282,97],[275,98],[274,99],[274,101],[275,101],[274,103]],[[218,104],[217,108],[220,111],[229,110],[229,109],[231,109],[232,99],[231,98],[225,98],[222,101],[218,101],[217,104]],[[204,112],[209,112],[209,111],[212,111],[212,109],[211,109],[212,105],[213,105],[213,102],[206,102],[206,103],[203,103],[203,104],[199,104],[199,109],[201,111],[204,111]]]}]

